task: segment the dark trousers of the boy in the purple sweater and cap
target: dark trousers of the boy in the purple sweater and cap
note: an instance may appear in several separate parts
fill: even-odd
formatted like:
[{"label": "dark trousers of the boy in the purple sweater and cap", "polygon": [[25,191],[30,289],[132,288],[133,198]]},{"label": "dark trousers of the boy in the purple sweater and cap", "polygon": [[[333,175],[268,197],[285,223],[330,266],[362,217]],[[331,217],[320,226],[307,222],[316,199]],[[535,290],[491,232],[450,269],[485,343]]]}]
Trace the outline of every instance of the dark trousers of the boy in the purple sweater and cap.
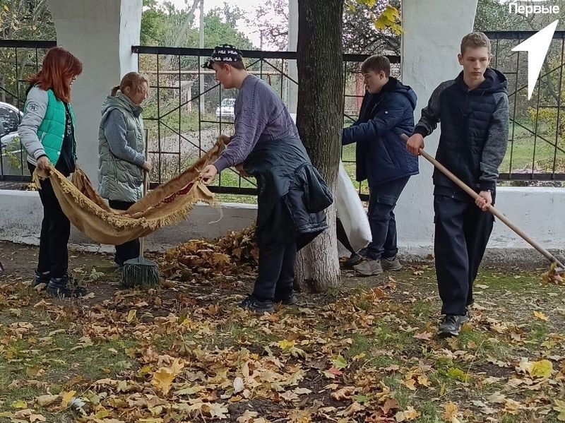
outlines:
[{"label": "dark trousers of the boy in the purple sweater and cap", "polygon": [[259,266],[253,294],[261,300],[286,299],[295,283],[296,242],[267,252],[259,251]]}]

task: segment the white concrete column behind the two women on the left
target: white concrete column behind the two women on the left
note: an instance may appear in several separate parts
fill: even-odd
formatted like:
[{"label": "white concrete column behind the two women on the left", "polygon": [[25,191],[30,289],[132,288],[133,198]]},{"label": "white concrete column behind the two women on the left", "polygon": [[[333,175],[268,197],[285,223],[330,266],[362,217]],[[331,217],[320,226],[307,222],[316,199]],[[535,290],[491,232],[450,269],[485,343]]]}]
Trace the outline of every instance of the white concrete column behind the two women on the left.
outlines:
[{"label": "white concrete column behind the two women on the left", "polygon": [[57,44],[83,62],[73,84],[78,165],[97,185],[100,106],[121,76],[137,71],[142,0],[49,0]]}]

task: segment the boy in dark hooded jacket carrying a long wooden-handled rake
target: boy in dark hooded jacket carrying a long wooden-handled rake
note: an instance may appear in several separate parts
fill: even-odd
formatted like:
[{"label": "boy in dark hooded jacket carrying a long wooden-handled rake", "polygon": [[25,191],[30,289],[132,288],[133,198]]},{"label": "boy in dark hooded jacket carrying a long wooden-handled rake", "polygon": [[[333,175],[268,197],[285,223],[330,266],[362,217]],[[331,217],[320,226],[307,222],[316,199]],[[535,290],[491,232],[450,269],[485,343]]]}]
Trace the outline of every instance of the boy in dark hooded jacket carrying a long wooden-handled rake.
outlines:
[{"label": "boy in dark hooded jacket carrying a long wooden-handled rake", "polygon": [[436,273],[443,302],[439,334],[456,336],[469,321],[472,285],[492,232],[498,169],[506,153],[509,104],[506,77],[489,68],[490,41],[482,32],[463,37],[458,55],[463,71],[432,93],[408,150],[418,155],[441,121],[436,159],[479,197],[472,198],[437,169],[434,171]]}]

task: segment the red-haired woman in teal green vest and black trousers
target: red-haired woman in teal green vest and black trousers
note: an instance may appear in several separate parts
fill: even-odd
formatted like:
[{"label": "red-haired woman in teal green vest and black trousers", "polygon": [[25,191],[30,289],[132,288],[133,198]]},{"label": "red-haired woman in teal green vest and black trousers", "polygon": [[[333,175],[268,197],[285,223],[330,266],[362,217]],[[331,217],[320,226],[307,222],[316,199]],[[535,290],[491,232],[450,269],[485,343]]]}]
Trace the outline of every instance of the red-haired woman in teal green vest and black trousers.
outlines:
[{"label": "red-haired woman in teal green vest and black trousers", "polygon": [[[28,168],[47,169],[50,163],[66,177],[75,170],[75,115],[71,106],[71,85],[83,71],[83,64],[60,47],[49,49],[41,71],[28,81],[28,98],[18,128],[28,151]],[[78,297],[83,287],[69,283],[69,235],[71,222],[61,210],[51,182],[41,182],[43,205],[40,254],[34,286],[44,284],[47,292],[59,297]],[[71,281],[72,282],[72,281]]]}]

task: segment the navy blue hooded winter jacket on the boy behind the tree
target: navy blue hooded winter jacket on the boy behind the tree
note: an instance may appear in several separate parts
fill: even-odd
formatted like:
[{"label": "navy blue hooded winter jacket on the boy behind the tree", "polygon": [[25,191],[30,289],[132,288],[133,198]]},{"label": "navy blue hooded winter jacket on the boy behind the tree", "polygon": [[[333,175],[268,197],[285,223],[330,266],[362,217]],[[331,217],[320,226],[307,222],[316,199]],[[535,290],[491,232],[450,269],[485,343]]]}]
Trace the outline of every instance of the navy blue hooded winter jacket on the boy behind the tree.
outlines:
[{"label": "navy blue hooded winter jacket on the boy behind the tree", "polygon": [[418,158],[408,153],[400,134],[412,135],[416,93],[389,78],[378,94],[367,93],[359,119],[343,129],[343,145],[357,143],[357,181],[369,186],[418,174]]}]

